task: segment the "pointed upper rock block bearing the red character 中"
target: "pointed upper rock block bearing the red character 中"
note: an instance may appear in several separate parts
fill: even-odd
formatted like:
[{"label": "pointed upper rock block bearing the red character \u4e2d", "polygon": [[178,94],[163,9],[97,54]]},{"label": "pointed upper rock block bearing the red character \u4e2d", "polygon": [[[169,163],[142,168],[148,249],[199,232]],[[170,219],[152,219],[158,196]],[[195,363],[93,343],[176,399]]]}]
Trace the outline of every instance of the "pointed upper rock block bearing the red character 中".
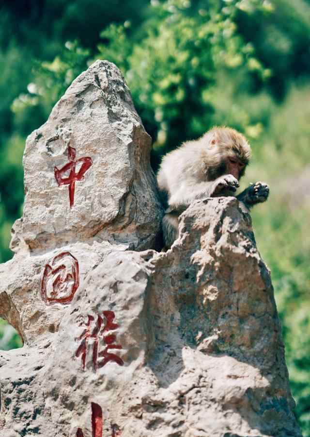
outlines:
[{"label": "pointed upper rock block bearing the red character \u4e2d", "polygon": [[150,149],[121,72],[96,61],[27,138],[21,234],[31,251],[102,240],[156,247]]}]

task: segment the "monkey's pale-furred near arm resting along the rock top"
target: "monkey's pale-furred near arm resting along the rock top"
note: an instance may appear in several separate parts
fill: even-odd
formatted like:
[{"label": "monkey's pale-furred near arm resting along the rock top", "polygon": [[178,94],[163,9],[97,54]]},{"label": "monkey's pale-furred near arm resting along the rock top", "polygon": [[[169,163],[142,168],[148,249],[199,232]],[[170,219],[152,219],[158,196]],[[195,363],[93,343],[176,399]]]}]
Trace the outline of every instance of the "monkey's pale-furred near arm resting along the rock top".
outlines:
[{"label": "monkey's pale-furred near arm resting along the rock top", "polygon": [[169,199],[169,207],[171,210],[186,209],[194,200],[220,195],[233,195],[238,186],[239,183],[232,174],[220,176],[210,182],[191,182],[181,185]]}]

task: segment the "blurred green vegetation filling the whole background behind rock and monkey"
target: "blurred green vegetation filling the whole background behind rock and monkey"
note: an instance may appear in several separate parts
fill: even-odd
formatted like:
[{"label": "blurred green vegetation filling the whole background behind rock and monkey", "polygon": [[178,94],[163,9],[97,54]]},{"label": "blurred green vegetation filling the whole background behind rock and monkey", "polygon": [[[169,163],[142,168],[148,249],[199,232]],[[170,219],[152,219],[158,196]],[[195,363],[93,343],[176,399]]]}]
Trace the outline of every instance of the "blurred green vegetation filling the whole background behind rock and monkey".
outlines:
[{"label": "blurred green vegetation filling the whole background behind rock and monkey", "polygon": [[[0,258],[22,214],[25,139],[95,59],[124,73],[152,165],[214,124],[244,132],[264,180],[253,211],[272,272],[295,414],[310,437],[310,0],[2,0]],[[21,345],[0,320],[0,348]]]}]

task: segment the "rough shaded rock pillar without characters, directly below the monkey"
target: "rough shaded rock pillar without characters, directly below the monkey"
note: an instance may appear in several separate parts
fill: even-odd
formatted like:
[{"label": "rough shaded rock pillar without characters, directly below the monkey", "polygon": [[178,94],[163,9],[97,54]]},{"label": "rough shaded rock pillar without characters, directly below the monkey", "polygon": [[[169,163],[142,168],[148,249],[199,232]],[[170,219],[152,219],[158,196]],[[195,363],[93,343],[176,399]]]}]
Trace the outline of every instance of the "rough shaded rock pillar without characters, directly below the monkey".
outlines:
[{"label": "rough shaded rock pillar without characters, directly below the monkey", "polygon": [[300,436],[250,216],[235,198],[207,199],[182,214],[179,230],[152,261],[148,366],[157,387],[146,384],[141,405],[152,432],[136,435]]}]

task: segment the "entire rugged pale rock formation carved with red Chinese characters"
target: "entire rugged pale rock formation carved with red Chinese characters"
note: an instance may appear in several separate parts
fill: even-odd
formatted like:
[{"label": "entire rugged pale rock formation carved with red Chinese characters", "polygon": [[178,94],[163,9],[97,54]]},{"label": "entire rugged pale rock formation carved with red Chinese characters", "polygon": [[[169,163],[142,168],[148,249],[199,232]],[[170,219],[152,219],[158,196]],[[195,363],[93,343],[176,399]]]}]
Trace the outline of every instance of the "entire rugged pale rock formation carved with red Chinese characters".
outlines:
[{"label": "entire rugged pale rock formation carved with red Chinese characters", "polygon": [[160,248],[150,138],[97,61],[27,140],[0,266],[0,437],[301,436],[270,274],[235,198]]}]

